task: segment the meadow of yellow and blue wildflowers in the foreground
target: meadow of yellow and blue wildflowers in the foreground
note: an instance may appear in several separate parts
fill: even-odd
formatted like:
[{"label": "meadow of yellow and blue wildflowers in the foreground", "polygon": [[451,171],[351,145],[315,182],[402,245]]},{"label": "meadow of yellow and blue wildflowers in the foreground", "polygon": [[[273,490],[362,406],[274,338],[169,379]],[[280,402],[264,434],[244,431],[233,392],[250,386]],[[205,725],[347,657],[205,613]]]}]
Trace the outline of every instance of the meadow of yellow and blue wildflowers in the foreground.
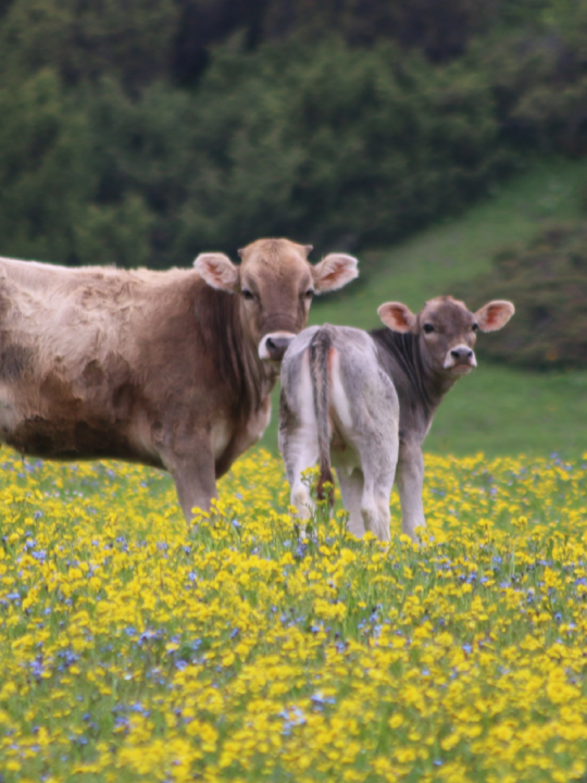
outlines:
[{"label": "meadow of yellow and blue wildflowers in the foreground", "polygon": [[4,783],[566,783],[587,769],[587,467],[428,457],[428,530],[315,520],[257,452],[168,477],[0,456]]}]

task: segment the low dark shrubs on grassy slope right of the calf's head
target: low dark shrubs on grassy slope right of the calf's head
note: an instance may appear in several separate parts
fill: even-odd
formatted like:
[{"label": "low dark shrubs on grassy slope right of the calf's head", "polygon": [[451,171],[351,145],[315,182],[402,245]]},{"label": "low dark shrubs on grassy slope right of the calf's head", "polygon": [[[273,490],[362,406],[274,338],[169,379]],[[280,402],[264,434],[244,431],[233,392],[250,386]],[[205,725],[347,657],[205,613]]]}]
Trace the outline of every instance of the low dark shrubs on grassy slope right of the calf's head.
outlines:
[{"label": "low dark shrubs on grassy slope right of the calf's head", "polygon": [[480,344],[483,356],[535,370],[585,368],[587,224],[552,226],[526,248],[503,250],[491,274],[459,295],[470,307],[488,299],[515,304],[508,326]]}]

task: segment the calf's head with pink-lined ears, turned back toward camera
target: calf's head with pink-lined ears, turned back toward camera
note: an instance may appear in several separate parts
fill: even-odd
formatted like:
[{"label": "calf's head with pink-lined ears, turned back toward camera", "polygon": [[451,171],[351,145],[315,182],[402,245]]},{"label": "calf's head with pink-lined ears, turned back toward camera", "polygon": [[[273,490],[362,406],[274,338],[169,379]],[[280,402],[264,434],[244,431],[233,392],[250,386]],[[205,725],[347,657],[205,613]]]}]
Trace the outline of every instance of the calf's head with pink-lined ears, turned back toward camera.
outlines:
[{"label": "calf's head with pink-lined ears, turned back toward camera", "polygon": [[473,313],[464,302],[437,297],[416,315],[401,302],[386,302],[377,313],[394,332],[419,335],[422,360],[430,371],[455,377],[477,366],[473,350],[477,331],[497,332],[505,326],[514,306],[498,299]]}]

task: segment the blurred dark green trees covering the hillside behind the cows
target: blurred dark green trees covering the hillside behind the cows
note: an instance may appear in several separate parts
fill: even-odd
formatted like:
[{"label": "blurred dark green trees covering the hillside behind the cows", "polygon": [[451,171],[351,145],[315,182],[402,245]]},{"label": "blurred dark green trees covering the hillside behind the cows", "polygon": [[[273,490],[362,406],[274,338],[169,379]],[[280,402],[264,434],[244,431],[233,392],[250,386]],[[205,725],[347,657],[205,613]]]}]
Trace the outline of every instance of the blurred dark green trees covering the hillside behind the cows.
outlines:
[{"label": "blurred dark green trees covering the hillside behind the cows", "polygon": [[0,251],[358,249],[587,148],[587,3],[0,0]]}]

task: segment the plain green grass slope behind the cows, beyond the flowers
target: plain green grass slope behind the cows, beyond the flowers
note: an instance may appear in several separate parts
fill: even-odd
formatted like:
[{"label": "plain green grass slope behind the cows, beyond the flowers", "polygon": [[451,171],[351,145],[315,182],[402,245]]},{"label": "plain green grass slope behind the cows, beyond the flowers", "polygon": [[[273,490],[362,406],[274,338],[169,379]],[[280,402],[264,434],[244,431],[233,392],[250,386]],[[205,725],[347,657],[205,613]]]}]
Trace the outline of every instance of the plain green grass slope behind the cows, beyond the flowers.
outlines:
[{"label": "plain green grass slope behind the cows, beyond the flowers", "polygon": [[[541,226],[582,215],[587,162],[540,161],[460,217],[430,226],[388,249],[359,254],[361,277],[340,294],[317,300],[310,323],[380,325],[377,307],[390,299],[417,311],[432,297],[491,269],[504,246],[527,243]],[[504,287],[503,298],[508,298]],[[484,303],[467,302],[472,308]],[[515,303],[515,302],[514,302]],[[480,335],[490,340],[491,335]],[[457,455],[576,457],[587,450],[587,370],[527,373],[480,363],[442,402],[426,450]],[[263,445],[277,449],[277,400]]]}]

